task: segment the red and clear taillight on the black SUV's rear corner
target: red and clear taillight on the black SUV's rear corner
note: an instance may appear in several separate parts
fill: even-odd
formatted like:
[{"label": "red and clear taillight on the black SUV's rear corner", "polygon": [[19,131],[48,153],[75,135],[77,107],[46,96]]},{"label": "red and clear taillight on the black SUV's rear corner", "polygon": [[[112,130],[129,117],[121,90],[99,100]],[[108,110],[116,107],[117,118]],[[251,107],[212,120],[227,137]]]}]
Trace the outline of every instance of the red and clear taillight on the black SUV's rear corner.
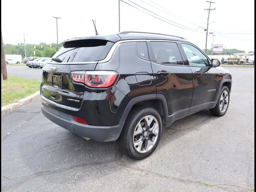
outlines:
[{"label": "red and clear taillight on the black SUV's rear corner", "polygon": [[84,83],[88,87],[107,88],[116,82],[118,73],[114,71],[73,71],[70,76],[74,82]]}]

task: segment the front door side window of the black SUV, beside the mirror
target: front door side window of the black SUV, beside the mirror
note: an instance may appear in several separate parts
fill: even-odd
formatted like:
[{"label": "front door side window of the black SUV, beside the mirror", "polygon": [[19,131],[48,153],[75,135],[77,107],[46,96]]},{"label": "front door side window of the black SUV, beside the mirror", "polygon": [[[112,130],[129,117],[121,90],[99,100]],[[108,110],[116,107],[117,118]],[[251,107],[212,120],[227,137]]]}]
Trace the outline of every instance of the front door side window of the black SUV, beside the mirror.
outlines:
[{"label": "front door side window of the black SUV, beside the mirror", "polygon": [[191,66],[209,66],[207,57],[192,45],[182,43],[184,52]]}]

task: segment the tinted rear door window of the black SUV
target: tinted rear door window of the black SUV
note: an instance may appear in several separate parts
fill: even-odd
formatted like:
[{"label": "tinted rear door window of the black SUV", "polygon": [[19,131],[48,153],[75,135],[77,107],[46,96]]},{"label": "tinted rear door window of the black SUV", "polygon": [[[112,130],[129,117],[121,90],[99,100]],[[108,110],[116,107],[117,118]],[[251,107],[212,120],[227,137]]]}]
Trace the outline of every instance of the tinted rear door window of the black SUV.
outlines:
[{"label": "tinted rear door window of the black SUV", "polygon": [[154,57],[153,60],[164,64],[183,65],[178,46],[174,42],[150,42]]}]

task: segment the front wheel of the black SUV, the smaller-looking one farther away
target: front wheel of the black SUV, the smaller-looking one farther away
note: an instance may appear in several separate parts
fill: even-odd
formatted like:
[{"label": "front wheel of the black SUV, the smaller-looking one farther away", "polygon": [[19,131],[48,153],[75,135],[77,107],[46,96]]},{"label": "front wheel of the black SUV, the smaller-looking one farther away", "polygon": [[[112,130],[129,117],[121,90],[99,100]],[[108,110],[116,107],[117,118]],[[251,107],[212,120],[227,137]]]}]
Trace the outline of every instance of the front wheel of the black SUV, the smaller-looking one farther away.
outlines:
[{"label": "front wheel of the black SUV, the smaller-looking one farther away", "polygon": [[217,104],[214,108],[210,109],[210,112],[215,116],[223,116],[227,110],[229,105],[229,89],[226,86],[223,86],[221,89],[221,94],[218,98]]}]

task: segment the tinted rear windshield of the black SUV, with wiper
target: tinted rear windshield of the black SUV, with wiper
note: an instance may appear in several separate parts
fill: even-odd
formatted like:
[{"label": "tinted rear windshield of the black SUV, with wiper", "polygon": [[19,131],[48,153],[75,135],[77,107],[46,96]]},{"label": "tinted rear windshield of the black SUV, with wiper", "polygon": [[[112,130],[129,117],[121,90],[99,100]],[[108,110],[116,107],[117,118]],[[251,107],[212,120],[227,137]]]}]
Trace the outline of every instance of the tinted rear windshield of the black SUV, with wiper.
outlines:
[{"label": "tinted rear windshield of the black SUV, with wiper", "polygon": [[[64,42],[53,58],[62,62],[94,62],[104,59],[114,43],[106,40],[76,40]],[[54,62],[54,61],[52,61]],[[61,62],[59,63],[61,64]]]}]

